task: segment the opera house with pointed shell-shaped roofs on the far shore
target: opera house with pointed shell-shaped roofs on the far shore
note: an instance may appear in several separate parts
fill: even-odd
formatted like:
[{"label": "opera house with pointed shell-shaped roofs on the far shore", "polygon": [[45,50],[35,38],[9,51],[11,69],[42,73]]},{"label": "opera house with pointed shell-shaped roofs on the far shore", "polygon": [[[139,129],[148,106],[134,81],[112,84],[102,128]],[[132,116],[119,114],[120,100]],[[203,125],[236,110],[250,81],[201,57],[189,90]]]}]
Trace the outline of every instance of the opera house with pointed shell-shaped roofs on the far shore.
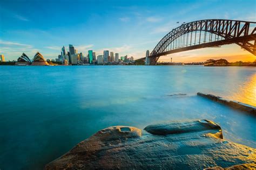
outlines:
[{"label": "opera house with pointed shell-shaped roofs on the far shore", "polygon": [[37,52],[35,54],[32,62],[25,53],[22,53],[22,55],[18,58],[15,65],[18,65],[18,66],[26,66],[26,65],[48,66],[49,63],[47,61],[45,61],[44,56],[41,53]]}]

